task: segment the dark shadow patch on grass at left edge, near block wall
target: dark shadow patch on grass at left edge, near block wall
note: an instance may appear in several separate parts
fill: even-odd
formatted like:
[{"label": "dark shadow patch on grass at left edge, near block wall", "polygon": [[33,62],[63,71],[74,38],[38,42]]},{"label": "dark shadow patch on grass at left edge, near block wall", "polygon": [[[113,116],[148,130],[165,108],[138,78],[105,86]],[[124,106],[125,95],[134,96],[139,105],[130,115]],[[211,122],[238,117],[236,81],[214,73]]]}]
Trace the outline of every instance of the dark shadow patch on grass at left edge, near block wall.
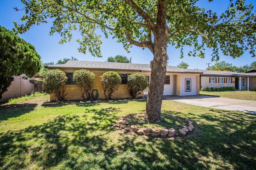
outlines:
[{"label": "dark shadow patch on grass at left edge, near block wall", "polygon": [[0,106],[0,121],[29,113],[30,111],[33,111],[36,106],[37,104],[2,105]]}]

